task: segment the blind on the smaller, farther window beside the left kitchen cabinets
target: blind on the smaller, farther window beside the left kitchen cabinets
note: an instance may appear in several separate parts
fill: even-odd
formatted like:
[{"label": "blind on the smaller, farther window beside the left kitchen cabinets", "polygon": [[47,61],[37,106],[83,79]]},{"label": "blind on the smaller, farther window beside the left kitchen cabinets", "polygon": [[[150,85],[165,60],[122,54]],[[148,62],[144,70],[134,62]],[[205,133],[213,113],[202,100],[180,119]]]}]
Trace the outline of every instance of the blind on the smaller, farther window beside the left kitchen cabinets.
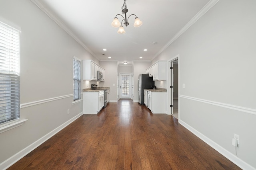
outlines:
[{"label": "blind on the smaller, farther window beside the left kitchen cabinets", "polygon": [[81,99],[81,61],[73,58],[73,90],[74,101]]}]

